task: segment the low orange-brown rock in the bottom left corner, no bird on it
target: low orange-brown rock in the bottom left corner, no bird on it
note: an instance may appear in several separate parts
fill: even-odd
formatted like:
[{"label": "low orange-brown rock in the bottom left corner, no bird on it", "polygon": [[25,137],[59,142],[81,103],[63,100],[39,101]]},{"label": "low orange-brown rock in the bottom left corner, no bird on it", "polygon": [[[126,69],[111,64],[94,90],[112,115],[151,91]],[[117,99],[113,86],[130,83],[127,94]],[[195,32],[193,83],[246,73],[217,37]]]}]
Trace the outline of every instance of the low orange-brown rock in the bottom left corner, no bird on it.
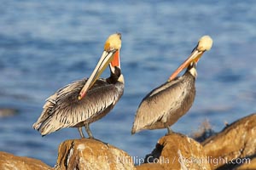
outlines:
[{"label": "low orange-brown rock in the bottom left corner, no bird on it", "polygon": [[0,169],[46,170],[53,168],[36,159],[22,156],[14,156],[12,154],[0,151]]}]

